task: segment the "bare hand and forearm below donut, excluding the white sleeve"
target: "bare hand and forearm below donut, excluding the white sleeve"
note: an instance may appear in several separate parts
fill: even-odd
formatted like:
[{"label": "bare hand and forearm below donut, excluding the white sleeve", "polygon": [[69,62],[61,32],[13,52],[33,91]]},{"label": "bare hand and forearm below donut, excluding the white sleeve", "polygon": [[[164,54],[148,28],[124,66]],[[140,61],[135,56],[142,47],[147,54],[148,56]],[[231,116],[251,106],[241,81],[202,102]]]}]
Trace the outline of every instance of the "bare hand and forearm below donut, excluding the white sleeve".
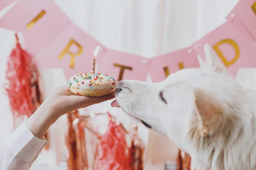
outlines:
[{"label": "bare hand and forearm below donut, excluding the white sleeve", "polygon": [[115,98],[114,94],[87,97],[73,94],[67,86],[55,88],[43,104],[26,120],[34,136],[43,139],[49,127],[63,114]]}]

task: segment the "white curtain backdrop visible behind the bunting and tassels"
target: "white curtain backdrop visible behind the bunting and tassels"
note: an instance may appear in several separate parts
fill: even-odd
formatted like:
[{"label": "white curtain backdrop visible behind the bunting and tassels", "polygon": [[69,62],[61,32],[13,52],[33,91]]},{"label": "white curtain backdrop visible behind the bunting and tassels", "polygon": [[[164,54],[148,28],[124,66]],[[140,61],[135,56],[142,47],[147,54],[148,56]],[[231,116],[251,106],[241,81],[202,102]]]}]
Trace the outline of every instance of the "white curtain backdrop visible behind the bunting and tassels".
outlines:
[{"label": "white curtain backdrop visible behind the bunting and tassels", "polygon": [[[74,23],[106,47],[148,58],[191,45],[224,23],[226,15],[237,2],[238,0],[55,0]],[[7,10],[8,8],[0,11],[0,17]],[[14,32],[0,29],[0,144],[12,132],[12,113],[2,85],[7,57],[14,45]],[[52,88],[66,84],[64,76],[52,79],[49,83],[52,76],[61,72],[58,69],[41,70],[44,82],[48,80],[44,84],[44,97]],[[254,88],[254,75],[252,69],[240,69],[237,81],[244,83],[244,87]],[[131,124],[119,109],[110,107],[110,102],[92,106],[89,110],[109,110],[127,128]],[[65,117],[62,117],[51,127],[51,136],[58,136],[58,140],[53,138],[50,141],[51,149],[40,156],[41,161],[53,166],[62,159],[65,126]],[[140,127],[140,135],[147,141],[148,131],[144,127]],[[46,155],[49,159],[46,159]],[[163,164],[157,164],[150,170],[163,169],[162,166]]]}]

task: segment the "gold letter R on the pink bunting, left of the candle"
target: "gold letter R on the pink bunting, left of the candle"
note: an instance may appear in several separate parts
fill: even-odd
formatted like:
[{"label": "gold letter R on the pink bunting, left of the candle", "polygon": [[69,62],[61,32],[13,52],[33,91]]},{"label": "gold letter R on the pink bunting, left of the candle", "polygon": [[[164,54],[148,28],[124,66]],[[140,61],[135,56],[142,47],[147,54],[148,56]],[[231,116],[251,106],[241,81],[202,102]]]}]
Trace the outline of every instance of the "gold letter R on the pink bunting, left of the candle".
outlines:
[{"label": "gold letter R on the pink bunting, left of the candle", "polygon": [[[72,44],[75,44],[76,46],[78,46],[79,50],[78,50],[77,53],[72,53],[72,52],[69,51],[69,48]],[[61,51],[61,54],[58,56],[58,59],[62,59],[66,53],[70,54],[71,60],[70,60],[70,65],[69,66],[70,66],[70,68],[74,68],[75,57],[81,55],[82,52],[83,52],[82,46],[78,42],[76,42],[75,40],[71,39],[68,42],[68,44],[66,45],[66,47],[63,49],[63,51]]]}]

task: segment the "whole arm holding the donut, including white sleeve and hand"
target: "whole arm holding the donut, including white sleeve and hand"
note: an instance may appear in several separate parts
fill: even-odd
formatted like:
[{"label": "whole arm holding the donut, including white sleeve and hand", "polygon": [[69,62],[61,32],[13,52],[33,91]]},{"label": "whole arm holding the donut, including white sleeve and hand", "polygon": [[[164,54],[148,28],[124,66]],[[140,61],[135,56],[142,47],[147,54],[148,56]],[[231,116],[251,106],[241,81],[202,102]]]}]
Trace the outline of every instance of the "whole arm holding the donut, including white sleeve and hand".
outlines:
[{"label": "whole arm holding the donut, including white sleeve and hand", "polygon": [[113,99],[78,96],[67,87],[56,88],[35,113],[23,122],[0,146],[0,170],[28,170],[48,144],[44,134],[63,114]]}]

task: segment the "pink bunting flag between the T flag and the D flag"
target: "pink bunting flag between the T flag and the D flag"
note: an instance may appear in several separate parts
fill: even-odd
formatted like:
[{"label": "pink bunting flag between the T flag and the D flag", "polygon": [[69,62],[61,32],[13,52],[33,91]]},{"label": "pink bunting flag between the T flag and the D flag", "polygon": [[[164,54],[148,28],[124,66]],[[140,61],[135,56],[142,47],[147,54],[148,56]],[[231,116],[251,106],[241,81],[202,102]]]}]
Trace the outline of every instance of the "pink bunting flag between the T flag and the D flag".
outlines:
[{"label": "pink bunting flag between the T flag and the D flag", "polygon": [[153,82],[160,82],[183,68],[198,67],[198,59],[195,51],[189,53],[189,48],[163,54],[152,59],[150,75]]}]

